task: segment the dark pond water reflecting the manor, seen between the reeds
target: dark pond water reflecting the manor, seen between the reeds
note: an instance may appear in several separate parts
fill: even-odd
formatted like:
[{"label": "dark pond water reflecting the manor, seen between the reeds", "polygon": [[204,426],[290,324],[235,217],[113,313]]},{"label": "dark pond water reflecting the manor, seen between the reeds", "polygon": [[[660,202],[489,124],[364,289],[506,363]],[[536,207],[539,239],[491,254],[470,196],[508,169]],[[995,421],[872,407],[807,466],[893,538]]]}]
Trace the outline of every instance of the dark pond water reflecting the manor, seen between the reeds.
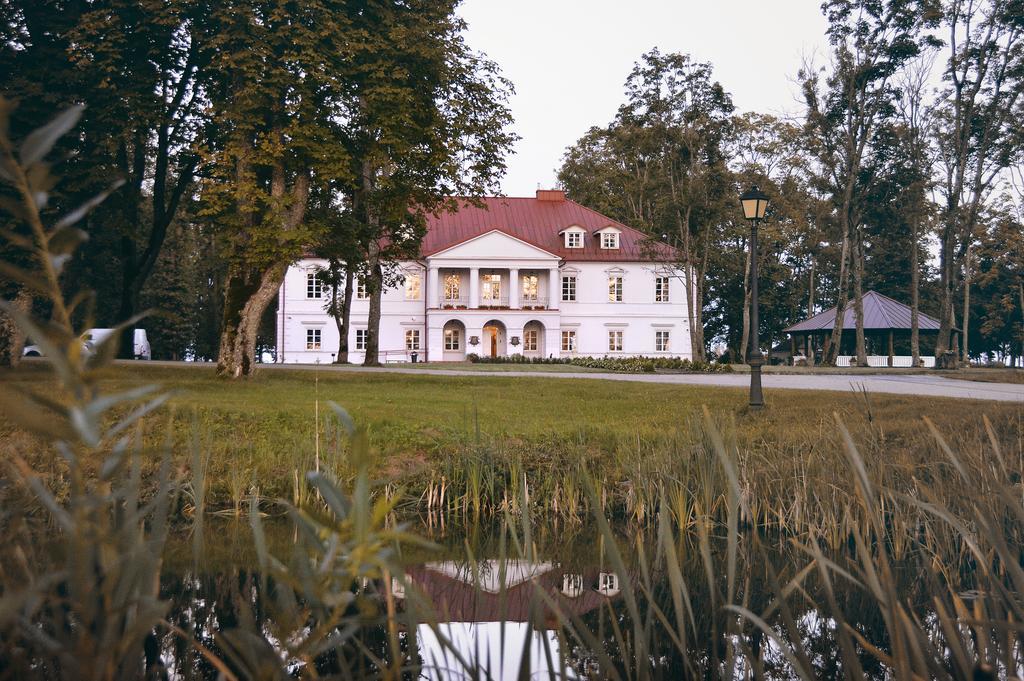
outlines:
[{"label": "dark pond water reflecting the manor, seen between the reeds", "polygon": [[[268,522],[265,529],[270,553],[287,560],[298,540],[294,527],[282,521]],[[784,584],[809,562],[784,542],[757,555],[737,552],[730,581],[724,541],[712,540],[711,552],[702,553],[679,538],[674,546],[685,585],[685,600],[680,601],[678,581],[666,568],[664,545],[659,548],[654,537],[629,526],[616,528],[614,546],[593,527],[534,528],[529,546],[518,551],[510,548],[522,546],[518,538],[499,526],[450,524],[417,531],[434,546],[398,549],[395,561],[403,577],[366,578],[352,591],[375,597],[338,606],[365,616],[343,647],[346,653],[334,651],[316,663],[322,673],[345,668],[354,678],[378,676],[375,664],[394,662],[400,651],[407,678],[438,680],[614,674],[718,678],[728,676],[726,668],[738,678],[755,668],[767,678],[794,676],[775,641],[749,623],[737,626],[738,619],[722,608],[726,601],[755,613],[769,608],[774,591],[766,567]],[[279,618],[290,611],[276,607],[286,589],[268,587],[257,565],[246,521],[207,521],[200,535],[176,534],[167,547],[161,584],[170,602],[168,619],[214,651],[222,647],[218,632],[248,627],[289,662],[281,642],[308,636],[316,615],[303,610],[295,620]],[[901,595],[927,620],[935,585],[912,557],[895,567]],[[842,676],[836,621],[815,605],[825,601],[816,572],[805,573],[801,588],[793,598],[792,615],[814,673],[819,678]],[[302,601],[301,594],[297,599]],[[836,600],[850,626],[886,649],[884,621],[872,599],[861,590],[845,589],[836,593]],[[419,605],[424,601],[428,610]],[[388,602],[395,623],[390,629]],[[873,656],[859,653],[867,676],[888,676]],[[162,638],[161,655],[172,677],[216,676],[180,637]],[[290,664],[292,673],[303,665],[298,658]]]}]

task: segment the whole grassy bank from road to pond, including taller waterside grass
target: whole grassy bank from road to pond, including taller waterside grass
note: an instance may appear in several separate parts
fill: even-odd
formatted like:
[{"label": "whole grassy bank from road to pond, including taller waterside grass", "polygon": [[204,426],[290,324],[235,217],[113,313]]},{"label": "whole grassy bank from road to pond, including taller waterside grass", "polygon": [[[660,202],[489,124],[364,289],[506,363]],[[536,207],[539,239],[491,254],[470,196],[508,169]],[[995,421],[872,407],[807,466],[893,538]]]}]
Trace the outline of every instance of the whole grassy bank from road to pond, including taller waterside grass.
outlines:
[{"label": "whole grassy bank from road to pond, including taller waterside grass", "polygon": [[[667,480],[687,491],[689,501],[678,503],[703,495],[705,506],[714,504],[721,479],[707,453],[703,408],[726,434],[752,491],[771,499],[773,513],[784,506],[780,498],[798,490],[815,499],[849,492],[849,477],[837,472],[846,466],[836,415],[880,480],[908,479],[941,458],[923,416],[977,456],[984,454],[987,416],[1006,451],[1024,456],[1024,414],[1006,403],[770,391],[768,408],[751,413],[744,390],[702,386],[308,370],[231,382],[208,367],[139,365],[108,372],[103,391],[158,383],[174,393],[176,463],[188,475],[198,443],[214,507],[237,507],[251,494],[301,501],[301,475],[317,461],[340,478],[351,475],[348,438],[328,400],[367,428],[375,475],[388,488],[402,485],[410,506],[420,509],[498,511],[515,504],[525,479],[548,508],[578,516],[584,471],[620,511],[640,519]],[[55,396],[42,366],[0,376],[0,390]],[[3,450],[58,478],[59,464],[45,448],[10,424],[0,428]],[[167,428],[167,417],[147,419],[154,449],[166,441]]]}]

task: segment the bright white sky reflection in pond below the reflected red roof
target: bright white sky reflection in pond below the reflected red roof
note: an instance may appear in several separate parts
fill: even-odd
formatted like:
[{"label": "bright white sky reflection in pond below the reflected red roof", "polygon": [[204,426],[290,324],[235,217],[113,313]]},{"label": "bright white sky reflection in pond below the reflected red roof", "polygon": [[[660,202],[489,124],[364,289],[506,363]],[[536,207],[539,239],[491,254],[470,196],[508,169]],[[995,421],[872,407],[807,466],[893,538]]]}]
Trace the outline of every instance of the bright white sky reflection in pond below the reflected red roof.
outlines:
[{"label": "bright white sky reflection in pond below the reflected red roof", "polygon": [[558,637],[553,631],[538,631],[525,622],[456,622],[438,625],[438,630],[451,648],[477,672],[467,670],[433,629],[420,625],[416,633],[424,663],[421,679],[512,681],[522,678],[519,670],[525,665],[531,679],[580,678],[568,667],[562,676]]}]

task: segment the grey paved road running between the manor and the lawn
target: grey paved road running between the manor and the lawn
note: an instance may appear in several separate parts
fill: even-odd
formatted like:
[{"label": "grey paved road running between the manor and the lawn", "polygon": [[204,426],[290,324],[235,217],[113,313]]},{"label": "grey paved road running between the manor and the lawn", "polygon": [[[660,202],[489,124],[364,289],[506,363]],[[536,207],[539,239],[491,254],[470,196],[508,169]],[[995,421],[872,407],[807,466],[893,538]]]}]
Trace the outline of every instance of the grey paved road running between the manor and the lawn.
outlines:
[{"label": "grey paved road running between the manor and the lawn", "polygon": [[[155,363],[156,364],[156,363]],[[530,378],[571,378],[607,381],[635,381],[638,383],[672,383],[679,385],[711,385],[742,388],[751,384],[749,374],[605,374],[605,373],[561,373],[561,372],[529,372],[503,371],[482,372],[464,371],[458,369],[407,369],[402,367],[330,367],[313,365],[264,365],[273,369],[319,369],[321,371],[339,372],[389,372],[394,374],[414,374],[433,376],[474,376],[506,377],[526,376]],[[794,390],[840,390],[868,392],[888,392],[900,395],[923,395],[929,397],[959,397],[963,399],[994,399],[999,401],[1015,401],[1024,403],[1024,385],[1013,383],[981,383],[978,381],[959,381],[941,376],[920,374],[889,375],[885,374],[765,374],[763,385],[770,389]]]}]

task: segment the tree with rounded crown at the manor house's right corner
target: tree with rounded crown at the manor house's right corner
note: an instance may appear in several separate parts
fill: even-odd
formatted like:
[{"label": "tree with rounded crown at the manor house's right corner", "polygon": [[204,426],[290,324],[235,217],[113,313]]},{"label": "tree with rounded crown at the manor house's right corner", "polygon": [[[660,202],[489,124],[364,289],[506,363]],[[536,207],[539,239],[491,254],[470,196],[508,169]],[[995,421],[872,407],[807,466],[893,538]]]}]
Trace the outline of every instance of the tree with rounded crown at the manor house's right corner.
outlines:
[{"label": "tree with rounded crown at the manor house's right corner", "polygon": [[[723,154],[732,100],[709,63],[642,55],[626,102],[605,129],[591,129],[563,158],[569,196],[679,250],[691,352],[706,353],[703,310],[716,227],[735,195]],[[728,209],[726,208],[728,206]]]}]

